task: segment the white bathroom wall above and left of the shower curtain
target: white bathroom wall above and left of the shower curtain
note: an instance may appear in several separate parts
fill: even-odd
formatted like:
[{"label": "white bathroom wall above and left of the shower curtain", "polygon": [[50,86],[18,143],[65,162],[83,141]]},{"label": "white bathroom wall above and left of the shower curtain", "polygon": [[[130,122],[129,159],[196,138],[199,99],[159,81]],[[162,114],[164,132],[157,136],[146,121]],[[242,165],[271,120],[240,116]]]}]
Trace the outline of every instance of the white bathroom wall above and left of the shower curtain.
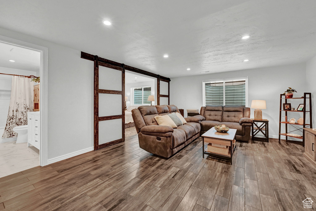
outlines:
[{"label": "white bathroom wall above and left of the shower curtain", "polygon": [[[36,75],[34,71],[0,67],[0,73],[15,75]],[[39,76],[39,75],[36,75]],[[5,127],[11,97],[12,75],[0,75],[0,128]],[[0,136],[2,134],[0,133]],[[1,138],[1,137],[0,137]]]}]

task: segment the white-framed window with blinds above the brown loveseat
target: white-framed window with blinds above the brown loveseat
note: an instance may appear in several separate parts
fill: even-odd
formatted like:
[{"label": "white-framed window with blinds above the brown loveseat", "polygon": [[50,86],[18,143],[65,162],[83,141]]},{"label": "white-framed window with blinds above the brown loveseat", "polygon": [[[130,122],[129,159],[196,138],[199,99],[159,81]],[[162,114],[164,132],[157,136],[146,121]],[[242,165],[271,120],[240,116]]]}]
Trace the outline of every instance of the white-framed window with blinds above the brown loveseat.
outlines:
[{"label": "white-framed window with blinds above the brown loveseat", "polygon": [[203,81],[203,105],[248,106],[248,77]]}]

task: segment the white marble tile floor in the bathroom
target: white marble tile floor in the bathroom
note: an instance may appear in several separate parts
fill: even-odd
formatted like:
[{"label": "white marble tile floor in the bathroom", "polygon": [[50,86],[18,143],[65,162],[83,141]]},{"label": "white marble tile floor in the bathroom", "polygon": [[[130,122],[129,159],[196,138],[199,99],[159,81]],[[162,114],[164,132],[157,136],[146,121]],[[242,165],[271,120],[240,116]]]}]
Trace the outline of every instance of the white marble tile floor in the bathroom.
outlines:
[{"label": "white marble tile floor in the bathroom", "polygon": [[27,143],[0,143],[0,178],[40,165],[40,150]]}]

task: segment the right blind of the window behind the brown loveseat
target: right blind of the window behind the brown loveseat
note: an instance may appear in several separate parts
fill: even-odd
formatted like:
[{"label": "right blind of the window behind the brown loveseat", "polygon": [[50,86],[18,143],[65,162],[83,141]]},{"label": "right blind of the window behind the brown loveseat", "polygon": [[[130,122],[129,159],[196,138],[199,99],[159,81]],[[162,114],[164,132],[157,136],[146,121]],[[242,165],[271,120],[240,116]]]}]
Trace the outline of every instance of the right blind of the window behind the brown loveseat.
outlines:
[{"label": "right blind of the window behind the brown loveseat", "polygon": [[225,105],[246,106],[246,80],[225,81]]}]

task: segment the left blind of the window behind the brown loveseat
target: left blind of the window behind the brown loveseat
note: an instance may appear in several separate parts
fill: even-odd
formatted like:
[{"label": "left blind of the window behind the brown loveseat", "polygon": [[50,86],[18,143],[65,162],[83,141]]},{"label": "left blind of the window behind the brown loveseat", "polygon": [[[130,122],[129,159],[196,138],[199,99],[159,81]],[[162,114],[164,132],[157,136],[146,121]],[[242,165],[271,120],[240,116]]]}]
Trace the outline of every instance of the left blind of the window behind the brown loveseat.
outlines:
[{"label": "left blind of the window behind the brown loveseat", "polygon": [[223,105],[224,82],[205,83],[205,105]]}]

